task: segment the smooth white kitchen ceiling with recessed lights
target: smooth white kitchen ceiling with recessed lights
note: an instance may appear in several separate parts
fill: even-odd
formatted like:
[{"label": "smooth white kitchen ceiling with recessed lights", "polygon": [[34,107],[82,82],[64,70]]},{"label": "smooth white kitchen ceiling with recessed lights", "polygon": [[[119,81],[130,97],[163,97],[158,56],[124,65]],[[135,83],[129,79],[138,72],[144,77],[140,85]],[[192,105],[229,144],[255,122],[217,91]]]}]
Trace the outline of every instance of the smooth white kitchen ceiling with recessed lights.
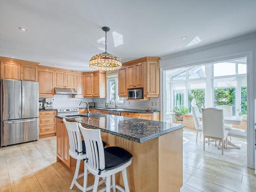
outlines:
[{"label": "smooth white kitchen ceiling with recessed lights", "polygon": [[0,0],[0,55],[88,71],[102,26],[108,52],[127,61],[255,32],[255,10],[255,0]]}]

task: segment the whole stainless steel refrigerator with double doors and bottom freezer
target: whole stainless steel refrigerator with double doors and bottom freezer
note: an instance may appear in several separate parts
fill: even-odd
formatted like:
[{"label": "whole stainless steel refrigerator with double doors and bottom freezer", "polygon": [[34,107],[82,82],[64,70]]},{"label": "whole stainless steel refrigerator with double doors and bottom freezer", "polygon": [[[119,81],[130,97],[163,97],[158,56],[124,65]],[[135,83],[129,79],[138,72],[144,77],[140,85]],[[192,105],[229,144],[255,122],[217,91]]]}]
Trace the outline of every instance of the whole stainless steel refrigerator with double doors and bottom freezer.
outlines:
[{"label": "whole stainless steel refrigerator with double doors and bottom freezer", "polygon": [[38,82],[1,80],[1,146],[38,139]]}]

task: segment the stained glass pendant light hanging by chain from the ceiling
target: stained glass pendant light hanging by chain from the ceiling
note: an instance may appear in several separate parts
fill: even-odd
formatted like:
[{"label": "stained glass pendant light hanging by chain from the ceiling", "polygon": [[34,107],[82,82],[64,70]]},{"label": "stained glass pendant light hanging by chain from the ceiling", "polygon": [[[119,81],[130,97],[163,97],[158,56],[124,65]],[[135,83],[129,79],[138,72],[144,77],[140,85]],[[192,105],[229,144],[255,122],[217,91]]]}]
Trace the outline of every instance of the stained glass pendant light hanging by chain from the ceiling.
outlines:
[{"label": "stained glass pendant light hanging by chain from the ceiling", "polygon": [[106,52],[106,32],[110,31],[109,27],[102,27],[102,30],[105,31],[105,52],[94,55],[89,64],[92,69],[110,71],[117,70],[122,67],[120,59]]}]

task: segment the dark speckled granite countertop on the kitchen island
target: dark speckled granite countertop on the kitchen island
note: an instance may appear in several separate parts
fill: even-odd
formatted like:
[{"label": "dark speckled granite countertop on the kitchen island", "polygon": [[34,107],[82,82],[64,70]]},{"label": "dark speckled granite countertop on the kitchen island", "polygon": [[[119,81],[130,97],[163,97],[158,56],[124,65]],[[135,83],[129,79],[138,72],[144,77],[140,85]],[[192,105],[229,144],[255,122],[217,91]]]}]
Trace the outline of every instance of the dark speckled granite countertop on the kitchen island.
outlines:
[{"label": "dark speckled granite countertop on the kitchen island", "polygon": [[90,127],[91,129],[100,129],[102,132],[138,143],[143,143],[184,127],[183,124],[177,123],[98,113],[91,113],[90,117],[87,117],[86,115],[80,116],[81,117],[74,118],[66,117],[65,115],[57,115],[56,117],[60,119],[66,118],[73,122],[80,122],[83,126]]}]

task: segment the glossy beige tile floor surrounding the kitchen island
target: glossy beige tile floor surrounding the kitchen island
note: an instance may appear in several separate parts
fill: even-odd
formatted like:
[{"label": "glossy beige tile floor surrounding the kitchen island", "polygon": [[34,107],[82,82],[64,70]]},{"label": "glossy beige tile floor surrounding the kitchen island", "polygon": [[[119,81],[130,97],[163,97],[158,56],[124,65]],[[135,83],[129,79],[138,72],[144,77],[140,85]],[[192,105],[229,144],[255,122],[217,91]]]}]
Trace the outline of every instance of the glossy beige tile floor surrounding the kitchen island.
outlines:
[{"label": "glossy beige tile floor surrounding the kitchen island", "polygon": [[[254,170],[247,168],[246,141],[233,138],[241,150],[221,151],[214,143],[202,150],[195,132],[184,130],[183,187],[189,191],[256,191]],[[0,192],[2,191],[70,191],[73,173],[56,162],[56,138],[49,137],[0,148]],[[82,183],[81,178],[81,183]],[[89,178],[93,184],[93,178]],[[80,191],[74,187],[71,191]]]}]

